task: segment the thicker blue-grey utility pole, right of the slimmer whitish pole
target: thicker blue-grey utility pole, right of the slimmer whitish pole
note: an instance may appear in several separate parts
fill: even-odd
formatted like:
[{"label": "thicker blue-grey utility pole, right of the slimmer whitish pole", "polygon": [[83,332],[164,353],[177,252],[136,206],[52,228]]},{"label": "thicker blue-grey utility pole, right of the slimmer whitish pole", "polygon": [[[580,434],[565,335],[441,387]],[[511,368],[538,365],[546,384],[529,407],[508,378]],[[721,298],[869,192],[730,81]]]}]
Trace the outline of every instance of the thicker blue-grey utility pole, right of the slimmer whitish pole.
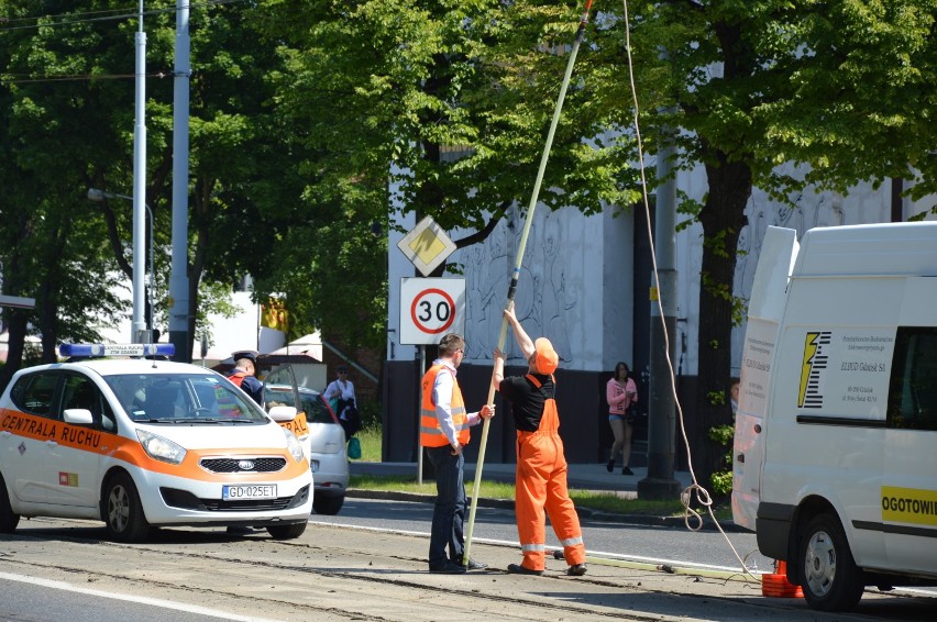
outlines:
[{"label": "thicker blue-grey utility pole, right of the slimmer whitish pole", "polygon": [[191,363],[189,335],[189,0],[176,0],[173,77],[173,263],[169,275],[169,342],[175,360]]}]

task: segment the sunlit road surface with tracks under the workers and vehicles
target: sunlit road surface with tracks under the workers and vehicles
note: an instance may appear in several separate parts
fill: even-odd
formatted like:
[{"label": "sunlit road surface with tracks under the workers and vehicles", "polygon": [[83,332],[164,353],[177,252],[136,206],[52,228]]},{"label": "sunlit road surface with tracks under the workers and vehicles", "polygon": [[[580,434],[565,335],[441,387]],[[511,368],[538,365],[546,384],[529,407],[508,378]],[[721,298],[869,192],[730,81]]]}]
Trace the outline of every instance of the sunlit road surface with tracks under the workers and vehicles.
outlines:
[{"label": "sunlit road surface with tracks under the workers and vehicles", "polygon": [[[550,559],[542,577],[508,575],[501,568],[517,562],[517,545],[494,537],[479,536],[473,544],[473,557],[490,564],[490,569],[433,575],[426,568],[428,525],[414,518],[426,513],[420,506],[385,502],[365,507],[362,501],[361,508],[350,507],[353,511],[346,520],[342,514],[329,519],[333,524],[312,517],[307,532],[287,542],[274,541],[265,532],[239,538],[223,530],[163,529],[144,544],[123,545],[104,541],[100,523],[22,521],[15,534],[0,535],[0,580],[4,581],[0,619],[124,622],[153,613],[154,601],[145,599],[173,609],[166,615],[169,619],[201,615],[304,622],[937,618],[937,599],[879,595],[877,590],[867,591],[855,613],[822,614],[801,599],[765,598],[757,584],[738,574],[679,567],[666,571],[666,565],[650,560],[591,558],[585,577],[567,577],[565,564]],[[352,524],[365,520],[367,513],[373,514],[371,524]],[[388,514],[408,513],[404,525],[408,529],[381,526]],[[488,530],[489,523],[478,529]],[[596,529],[604,527],[588,524],[586,533]],[[642,529],[657,534],[657,540],[677,536],[655,527]],[[637,540],[640,532],[627,533]],[[42,600],[34,590],[16,587],[40,580],[46,581]],[[76,596],[88,588],[95,590],[95,599]],[[101,595],[126,604],[118,610],[99,607],[96,602]],[[141,609],[134,609],[133,602]],[[67,618],[62,618],[63,612]]]}]

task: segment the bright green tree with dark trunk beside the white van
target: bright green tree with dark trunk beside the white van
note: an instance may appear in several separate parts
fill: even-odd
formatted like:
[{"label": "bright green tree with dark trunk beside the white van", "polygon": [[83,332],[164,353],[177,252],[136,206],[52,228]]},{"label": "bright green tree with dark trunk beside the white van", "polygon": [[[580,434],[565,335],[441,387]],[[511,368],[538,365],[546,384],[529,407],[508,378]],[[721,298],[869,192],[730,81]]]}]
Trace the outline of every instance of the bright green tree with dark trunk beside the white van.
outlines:
[{"label": "bright green tree with dark trunk beside the white van", "polygon": [[[705,431],[728,416],[713,396],[730,376],[731,326],[742,312],[732,279],[752,187],[786,200],[811,184],[914,177],[914,192],[933,190],[934,2],[627,7],[628,21],[603,7],[589,27],[541,199],[586,213],[631,202],[631,29],[647,153],[660,149],[664,129],[677,129],[677,166],[702,166],[708,180],[705,199],[681,209],[704,231],[696,411],[712,470],[720,449]],[[286,42],[294,69],[283,102],[324,152],[313,188],[381,210],[386,180],[404,212],[483,236],[534,177],[580,9],[539,0],[316,2],[298,20],[299,3],[275,4],[264,27]],[[461,157],[440,157],[444,149]],[[786,175],[784,163],[811,168]]]}]

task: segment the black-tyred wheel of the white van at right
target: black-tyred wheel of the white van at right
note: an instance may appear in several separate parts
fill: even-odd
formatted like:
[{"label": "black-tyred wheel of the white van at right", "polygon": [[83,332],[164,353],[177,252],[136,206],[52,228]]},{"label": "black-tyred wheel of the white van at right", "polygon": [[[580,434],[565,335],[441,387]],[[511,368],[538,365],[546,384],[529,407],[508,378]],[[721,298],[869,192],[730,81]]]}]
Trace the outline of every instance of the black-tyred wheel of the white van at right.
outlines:
[{"label": "black-tyred wheel of the white van at right", "polygon": [[798,552],[804,598],[813,609],[849,611],[866,589],[839,520],[829,513],[808,523]]}]

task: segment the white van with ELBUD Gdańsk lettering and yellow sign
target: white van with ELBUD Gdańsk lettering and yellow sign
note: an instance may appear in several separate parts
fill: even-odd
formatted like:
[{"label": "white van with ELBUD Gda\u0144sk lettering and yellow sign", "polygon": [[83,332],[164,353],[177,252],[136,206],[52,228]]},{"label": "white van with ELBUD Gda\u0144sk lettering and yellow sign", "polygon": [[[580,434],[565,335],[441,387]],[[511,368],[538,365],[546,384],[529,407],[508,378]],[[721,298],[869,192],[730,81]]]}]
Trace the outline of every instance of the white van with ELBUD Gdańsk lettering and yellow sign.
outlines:
[{"label": "white van with ELBUD Gda\u0144sk lettering and yellow sign", "polygon": [[937,222],[770,227],[749,301],[736,523],[811,607],[937,585]]}]

